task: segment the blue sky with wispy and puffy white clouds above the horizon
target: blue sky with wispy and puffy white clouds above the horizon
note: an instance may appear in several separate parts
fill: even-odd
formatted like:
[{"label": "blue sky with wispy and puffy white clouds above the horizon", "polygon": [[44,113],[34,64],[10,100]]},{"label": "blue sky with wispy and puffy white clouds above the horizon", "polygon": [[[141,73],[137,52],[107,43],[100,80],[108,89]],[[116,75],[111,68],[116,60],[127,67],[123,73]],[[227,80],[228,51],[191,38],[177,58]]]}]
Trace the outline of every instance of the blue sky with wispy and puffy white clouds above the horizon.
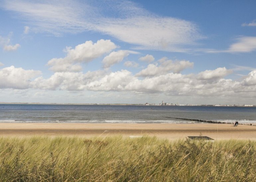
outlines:
[{"label": "blue sky with wispy and puffy white clouds above the horizon", "polygon": [[256,105],[255,7],[2,0],[0,102]]}]

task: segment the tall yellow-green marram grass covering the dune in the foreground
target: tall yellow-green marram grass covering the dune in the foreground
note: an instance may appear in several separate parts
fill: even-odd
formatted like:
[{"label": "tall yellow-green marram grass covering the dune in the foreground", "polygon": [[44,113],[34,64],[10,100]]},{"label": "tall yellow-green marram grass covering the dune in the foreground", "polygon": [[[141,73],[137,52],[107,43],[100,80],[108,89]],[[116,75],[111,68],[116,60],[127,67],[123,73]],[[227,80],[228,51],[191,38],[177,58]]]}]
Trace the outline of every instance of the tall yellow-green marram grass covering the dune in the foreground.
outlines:
[{"label": "tall yellow-green marram grass covering the dune in the foreground", "polygon": [[256,143],[0,138],[0,181],[256,181]]}]

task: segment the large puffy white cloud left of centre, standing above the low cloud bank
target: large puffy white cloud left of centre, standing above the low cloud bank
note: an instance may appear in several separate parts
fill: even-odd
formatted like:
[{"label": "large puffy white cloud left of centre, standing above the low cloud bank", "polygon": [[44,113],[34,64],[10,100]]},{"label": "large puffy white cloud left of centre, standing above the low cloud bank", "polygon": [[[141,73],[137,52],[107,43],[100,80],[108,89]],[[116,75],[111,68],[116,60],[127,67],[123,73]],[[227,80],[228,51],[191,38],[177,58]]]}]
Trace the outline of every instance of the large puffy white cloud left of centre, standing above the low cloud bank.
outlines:
[{"label": "large puffy white cloud left of centre, standing above the low cloud bank", "polygon": [[101,39],[96,43],[86,41],[83,44],[75,46],[74,49],[66,47],[66,57],[51,59],[48,62],[48,66],[55,72],[81,71],[82,68],[79,63],[92,61],[115,48],[116,45],[110,40]]}]

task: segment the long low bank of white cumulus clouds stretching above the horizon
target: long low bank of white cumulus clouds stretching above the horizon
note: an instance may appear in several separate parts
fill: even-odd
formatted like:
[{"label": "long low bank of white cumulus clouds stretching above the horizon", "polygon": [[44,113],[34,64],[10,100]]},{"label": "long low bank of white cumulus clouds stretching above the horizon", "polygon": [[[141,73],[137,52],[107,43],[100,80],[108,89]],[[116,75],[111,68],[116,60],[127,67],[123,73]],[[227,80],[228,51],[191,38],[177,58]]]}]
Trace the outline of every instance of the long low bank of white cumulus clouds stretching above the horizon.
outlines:
[{"label": "long low bank of white cumulus clouds stretching above the horizon", "polygon": [[[180,65],[183,61],[176,61]],[[188,63],[187,63],[188,64]],[[164,93],[169,96],[229,96],[255,97],[256,70],[241,81],[225,79],[231,74],[226,68],[205,70],[198,74],[174,72],[156,74],[139,79],[132,72],[122,69],[83,72],[55,72],[49,78],[38,77],[41,71],[24,70],[14,66],[0,69],[0,88],[41,89],[66,91],[116,91],[134,94]],[[36,78],[35,78],[36,77]],[[244,94],[246,93],[246,94]]]}]

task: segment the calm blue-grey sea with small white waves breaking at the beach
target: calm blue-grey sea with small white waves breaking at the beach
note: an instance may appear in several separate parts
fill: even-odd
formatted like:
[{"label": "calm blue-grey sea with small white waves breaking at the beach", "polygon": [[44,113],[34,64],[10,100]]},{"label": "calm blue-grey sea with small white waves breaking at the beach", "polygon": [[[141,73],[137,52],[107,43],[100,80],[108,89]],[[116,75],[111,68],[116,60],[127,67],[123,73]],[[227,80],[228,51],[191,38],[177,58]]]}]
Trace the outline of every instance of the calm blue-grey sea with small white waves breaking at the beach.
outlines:
[{"label": "calm blue-grey sea with small white waves breaking at the beach", "polygon": [[256,123],[256,107],[0,104],[0,122],[188,122],[168,117]]}]

